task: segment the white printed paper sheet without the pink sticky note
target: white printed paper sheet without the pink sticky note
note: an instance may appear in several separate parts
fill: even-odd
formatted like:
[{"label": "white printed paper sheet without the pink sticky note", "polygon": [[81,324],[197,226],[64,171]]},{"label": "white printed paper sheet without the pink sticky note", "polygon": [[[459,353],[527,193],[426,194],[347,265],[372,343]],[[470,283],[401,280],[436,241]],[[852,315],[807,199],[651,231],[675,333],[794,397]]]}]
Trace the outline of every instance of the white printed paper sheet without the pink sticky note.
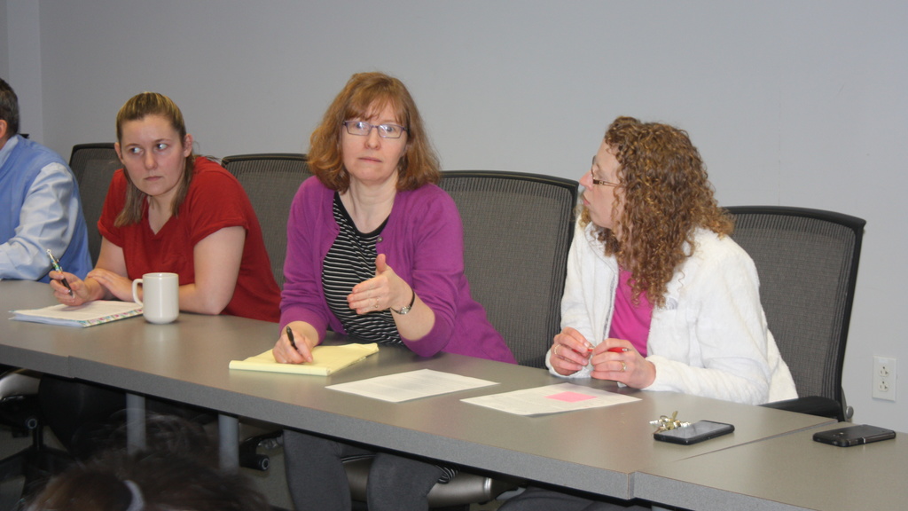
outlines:
[{"label": "white printed paper sheet without the pink sticky note", "polygon": [[498,385],[496,382],[452,375],[431,369],[419,369],[397,375],[376,376],[365,380],[326,386],[332,390],[360,396],[401,403],[419,397],[439,396],[481,386]]}]

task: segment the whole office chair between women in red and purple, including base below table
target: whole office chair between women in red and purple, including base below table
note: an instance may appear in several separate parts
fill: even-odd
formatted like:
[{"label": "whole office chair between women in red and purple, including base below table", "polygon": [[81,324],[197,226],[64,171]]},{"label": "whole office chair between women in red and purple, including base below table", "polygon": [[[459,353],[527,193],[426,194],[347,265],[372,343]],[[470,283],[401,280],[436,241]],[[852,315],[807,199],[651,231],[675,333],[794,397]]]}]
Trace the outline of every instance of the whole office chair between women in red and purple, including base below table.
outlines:
[{"label": "whole office chair between women in red and purple, including base below table", "polygon": [[[272,153],[233,155],[221,165],[234,175],[252,202],[262,226],[265,250],[271,261],[271,272],[283,287],[283,262],[287,255],[287,216],[297,189],[311,176],[306,155]],[[280,444],[281,426],[241,421],[240,466],[267,470],[270,457],[259,453],[259,447],[274,448]]]}]

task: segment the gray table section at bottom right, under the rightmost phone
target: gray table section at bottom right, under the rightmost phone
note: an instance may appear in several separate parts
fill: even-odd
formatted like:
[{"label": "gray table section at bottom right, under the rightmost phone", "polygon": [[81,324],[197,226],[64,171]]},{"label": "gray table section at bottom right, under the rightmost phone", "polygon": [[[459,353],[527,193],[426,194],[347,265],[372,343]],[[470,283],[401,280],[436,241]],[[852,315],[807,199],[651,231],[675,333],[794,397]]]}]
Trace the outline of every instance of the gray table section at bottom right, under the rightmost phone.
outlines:
[{"label": "gray table section at bottom right, under the rightmost phone", "polygon": [[648,467],[634,476],[636,494],[704,511],[908,506],[908,436],[852,447],[814,442],[814,432],[838,426]]}]

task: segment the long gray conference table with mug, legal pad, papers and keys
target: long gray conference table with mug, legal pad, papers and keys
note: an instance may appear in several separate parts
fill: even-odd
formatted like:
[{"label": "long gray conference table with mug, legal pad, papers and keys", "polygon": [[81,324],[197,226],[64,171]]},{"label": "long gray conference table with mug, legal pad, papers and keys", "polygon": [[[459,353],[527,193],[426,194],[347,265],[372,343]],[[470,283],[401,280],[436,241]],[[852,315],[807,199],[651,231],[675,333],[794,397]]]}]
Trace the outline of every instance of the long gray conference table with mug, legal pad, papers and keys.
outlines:
[{"label": "long gray conference table with mug, legal pad, papers and keys", "polygon": [[[0,282],[3,310],[54,303],[49,286]],[[143,396],[149,396],[202,406],[226,417],[228,424],[237,417],[251,417],[480,472],[603,496],[643,496],[668,505],[675,496],[659,491],[659,469],[696,463],[708,459],[707,455],[734,456],[751,446],[759,450],[766,442],[808,435],[832,422],[706,397],[643,392],[600,380],[572,383],[637,401],[547,416],[512,415],[460,400],[565,380],[543,369],[469,356],[422,358],[396,346],[382,346],[378,354],[331,376],[228,368],[231,360],[271,348],[277,336],[275,324],[187,313],[170,325],[152,325],[141,316],[87,328],[4,320],[0,321],[0,363],[119,387],[138,396],[140,404]],[[331,342],[344,341],[331,336]],[[472,376],[497,385],[398,404],[326,388],[416,369]],[[735,432],[694,446],[654,441],[650,421],[675,411],[684,421],[734,424]],[[640,479],[641,474],[646,478]],[[650,484],[653,489],[647,493],[644,490]]]}]

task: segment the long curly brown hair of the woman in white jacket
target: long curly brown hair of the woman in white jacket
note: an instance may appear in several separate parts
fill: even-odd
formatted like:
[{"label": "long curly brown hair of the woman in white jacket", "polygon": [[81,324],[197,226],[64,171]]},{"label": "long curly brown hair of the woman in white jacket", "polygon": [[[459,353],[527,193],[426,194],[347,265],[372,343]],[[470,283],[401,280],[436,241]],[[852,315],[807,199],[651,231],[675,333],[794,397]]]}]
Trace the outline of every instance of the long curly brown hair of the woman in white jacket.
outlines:
[{"label": "long curly brown hair of the woman in white jacket", "polygon": [[[631,273],[634,300],[646,293],[665,306],[666,286],[676,268],[694,251],[697,227],[730,235],[734,221],[719,207],[706,165],[687,132],[670,125],[617,117],[605,143],[618,162],[612,229],[599,227],[606,254]],[[586,208],[581,222],[590,222]]]}]

